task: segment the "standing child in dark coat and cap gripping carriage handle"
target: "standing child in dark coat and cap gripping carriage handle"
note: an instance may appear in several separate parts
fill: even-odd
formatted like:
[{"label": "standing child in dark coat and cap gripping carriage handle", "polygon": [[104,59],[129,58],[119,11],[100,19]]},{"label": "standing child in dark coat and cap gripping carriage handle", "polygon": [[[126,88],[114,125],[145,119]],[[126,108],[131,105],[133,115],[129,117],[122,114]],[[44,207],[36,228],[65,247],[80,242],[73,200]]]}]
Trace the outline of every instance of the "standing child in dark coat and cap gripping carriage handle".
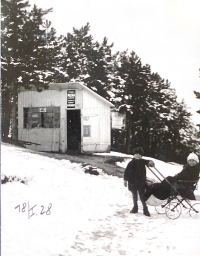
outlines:
[{"label": "standing child in dark coat and cap gripping carriage handle", "polygon": [[138,193],[143,205],[143,213],[146,216],[150,216],[147,205],[144,200],[144,192],[146,188],[146,165],[154,167],[155,164],[151,160],[142,159],[144,152],[142,147],[135,148],[133,150],[133,159],[128,163],[124,172],[124,186],[131,191],[133,195],[133,209],[130,213],[138,212]]}]

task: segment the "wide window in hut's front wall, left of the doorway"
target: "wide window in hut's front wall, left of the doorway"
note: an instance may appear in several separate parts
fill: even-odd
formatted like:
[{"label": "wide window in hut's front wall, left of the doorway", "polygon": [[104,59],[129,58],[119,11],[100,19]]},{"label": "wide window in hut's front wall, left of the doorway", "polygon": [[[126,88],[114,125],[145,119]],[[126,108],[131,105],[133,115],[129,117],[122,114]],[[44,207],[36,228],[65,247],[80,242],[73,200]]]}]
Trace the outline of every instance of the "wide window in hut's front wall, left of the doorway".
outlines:
[{"label": "wide window in hut's front wall, left of the doorway", "polygon": [[60,128],[60,107],[24,108],[24,128]]}]

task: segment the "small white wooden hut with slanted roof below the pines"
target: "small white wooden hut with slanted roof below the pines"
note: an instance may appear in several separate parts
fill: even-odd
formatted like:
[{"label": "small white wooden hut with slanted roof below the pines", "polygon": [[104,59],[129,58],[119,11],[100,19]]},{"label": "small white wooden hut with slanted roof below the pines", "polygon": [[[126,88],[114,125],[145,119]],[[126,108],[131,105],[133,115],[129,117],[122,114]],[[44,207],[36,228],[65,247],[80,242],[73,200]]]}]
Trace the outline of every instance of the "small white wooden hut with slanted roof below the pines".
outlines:
[{"label": "small white wooden hut with slanted roof below the pines", "polygon": [[18,94],[18,139],[37,151],[109,152],[113,105],[81,83]]}]

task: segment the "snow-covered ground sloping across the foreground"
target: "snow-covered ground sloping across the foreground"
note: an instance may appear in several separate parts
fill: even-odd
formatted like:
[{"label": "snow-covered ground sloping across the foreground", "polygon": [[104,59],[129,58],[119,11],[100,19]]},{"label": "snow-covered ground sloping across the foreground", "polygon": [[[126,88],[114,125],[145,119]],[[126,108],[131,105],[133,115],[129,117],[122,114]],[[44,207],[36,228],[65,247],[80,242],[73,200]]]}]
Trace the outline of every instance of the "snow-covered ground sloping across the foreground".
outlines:
[{"label": "snow-covered ground sloping across the foreground", "polygon": [[[29,180],[1,186],[2,256],[200,255],[200,213],[170,220],[149,206],[151,217],[130,214],[121,178],[14,146],[1,151],[1,174]],[[165,176],[182,168],[154,161]]]}]

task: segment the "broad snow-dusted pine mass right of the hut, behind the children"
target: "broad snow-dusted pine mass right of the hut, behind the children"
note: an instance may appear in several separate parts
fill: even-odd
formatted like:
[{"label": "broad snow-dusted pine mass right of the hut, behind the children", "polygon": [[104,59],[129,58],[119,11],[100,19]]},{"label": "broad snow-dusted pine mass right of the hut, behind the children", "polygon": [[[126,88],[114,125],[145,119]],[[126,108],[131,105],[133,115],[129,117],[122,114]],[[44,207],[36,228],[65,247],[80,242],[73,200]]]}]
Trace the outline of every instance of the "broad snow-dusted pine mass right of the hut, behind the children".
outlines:
[{"label": "broad snow-dusted pine mass right of the hut, behind the children", "polygon": [[191,114],[184,108],[180,112],[182,105],[168,80],[151,73],[150,66],[143,66],[134,52],[119,56],[116,69],[123,83],[113,91],[119,111],[126,114],[126,130],[121,133],[126,152],[141,145],[149,156],[175,159],[182,145],[181,131],[191,130]]}]

